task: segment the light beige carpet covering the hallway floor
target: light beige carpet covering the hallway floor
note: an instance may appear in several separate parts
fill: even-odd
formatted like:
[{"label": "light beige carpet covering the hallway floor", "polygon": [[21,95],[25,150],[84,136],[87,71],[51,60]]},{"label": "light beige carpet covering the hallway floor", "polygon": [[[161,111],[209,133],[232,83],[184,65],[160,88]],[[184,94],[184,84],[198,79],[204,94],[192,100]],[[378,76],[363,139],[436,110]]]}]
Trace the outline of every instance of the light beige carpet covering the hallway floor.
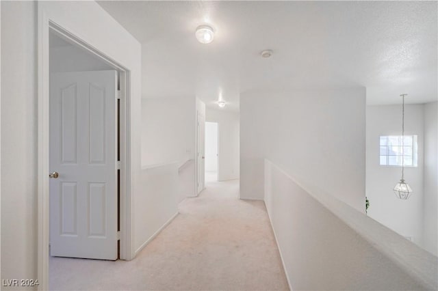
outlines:
[{"label": "light beige carpet covering the hallway floor", "polygon": [[51,258],[51,290],[288,290],[261,201],[239,181],[209,182],[130,261]]}]

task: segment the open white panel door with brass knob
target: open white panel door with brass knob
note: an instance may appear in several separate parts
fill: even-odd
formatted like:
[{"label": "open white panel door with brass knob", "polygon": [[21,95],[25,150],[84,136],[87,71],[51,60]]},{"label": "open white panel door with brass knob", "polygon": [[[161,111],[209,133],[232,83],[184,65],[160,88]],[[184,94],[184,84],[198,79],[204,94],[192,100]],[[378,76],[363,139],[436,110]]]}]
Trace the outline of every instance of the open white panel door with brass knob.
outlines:
[{"label": "open white panel door with brass knob", "polygon": [[117,72],[50,79],[51,255],[117,259]]}]

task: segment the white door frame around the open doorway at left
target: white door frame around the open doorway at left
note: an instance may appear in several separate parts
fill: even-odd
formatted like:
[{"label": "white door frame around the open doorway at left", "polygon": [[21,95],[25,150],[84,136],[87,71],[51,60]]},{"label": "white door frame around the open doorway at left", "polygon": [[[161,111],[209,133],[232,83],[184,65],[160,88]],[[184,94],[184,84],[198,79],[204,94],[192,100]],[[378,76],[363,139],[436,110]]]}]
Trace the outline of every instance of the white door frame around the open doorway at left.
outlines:
[{"label": "white door frame around the open doorway at left", "polygon": [[120,80],[120,260],[134,257],[131,197],[131,72],[38,11],[38,290],[49,287],[49,33],[56,33],[105,61]]}]

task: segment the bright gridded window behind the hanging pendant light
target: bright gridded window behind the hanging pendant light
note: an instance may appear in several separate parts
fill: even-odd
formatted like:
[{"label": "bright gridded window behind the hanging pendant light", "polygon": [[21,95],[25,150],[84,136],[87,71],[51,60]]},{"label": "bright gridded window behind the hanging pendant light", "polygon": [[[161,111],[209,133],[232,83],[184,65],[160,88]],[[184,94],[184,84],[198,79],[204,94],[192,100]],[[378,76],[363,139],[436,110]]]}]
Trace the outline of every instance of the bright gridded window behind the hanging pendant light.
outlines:
[{"label": "bright gridded window behind the hanging pendant light", "polygon": [[417,167],[417,136],[381,136],[380,165],[401,167],[402,163]]}]

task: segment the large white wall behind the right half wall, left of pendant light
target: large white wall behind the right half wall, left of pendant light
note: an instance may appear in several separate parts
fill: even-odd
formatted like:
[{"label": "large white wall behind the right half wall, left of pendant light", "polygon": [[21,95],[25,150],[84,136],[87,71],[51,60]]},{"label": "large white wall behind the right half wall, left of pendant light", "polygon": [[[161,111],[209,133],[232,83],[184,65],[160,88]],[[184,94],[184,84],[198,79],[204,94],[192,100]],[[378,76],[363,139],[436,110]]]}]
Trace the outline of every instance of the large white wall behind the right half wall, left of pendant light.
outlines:
[{"label": "large white wall behind the right half wall, left of pendant light", "polygon": [[313,189],[365,209],[365,89],[246,92],[240,197],[263,199],[263,158]]}]

